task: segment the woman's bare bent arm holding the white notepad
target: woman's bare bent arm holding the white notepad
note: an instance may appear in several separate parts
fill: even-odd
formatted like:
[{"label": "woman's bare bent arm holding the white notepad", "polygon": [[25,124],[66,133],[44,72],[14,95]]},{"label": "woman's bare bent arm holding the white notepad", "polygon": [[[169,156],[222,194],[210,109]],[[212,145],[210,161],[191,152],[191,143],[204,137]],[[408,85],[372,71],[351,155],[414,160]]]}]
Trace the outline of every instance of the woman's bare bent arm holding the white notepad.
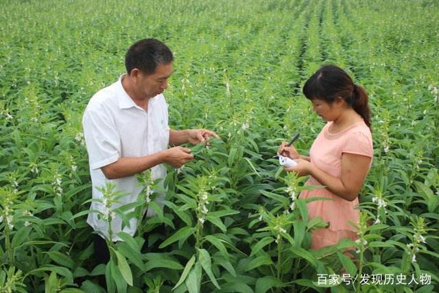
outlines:
[{"label": "woman's bare bent arm holding the white notepad", "polygon": [[302,159],[296,160],[298,165],[285,168],[285,170],[297,172],[299,176],[311,175],[320,184],[325,185],[333,194],[345,200],[353,201],[357,198],[361,187],[363,187],[364,180],[368,174],[370,160],[371,158],[368,156],[343,153],[341,178],[331,176]]}]

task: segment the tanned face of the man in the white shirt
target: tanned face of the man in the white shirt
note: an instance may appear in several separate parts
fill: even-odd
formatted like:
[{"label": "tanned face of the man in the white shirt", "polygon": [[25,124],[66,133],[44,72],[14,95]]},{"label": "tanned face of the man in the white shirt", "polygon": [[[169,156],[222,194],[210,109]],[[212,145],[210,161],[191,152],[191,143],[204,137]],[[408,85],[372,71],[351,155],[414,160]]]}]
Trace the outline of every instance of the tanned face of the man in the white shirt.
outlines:
[{"label": "tanned face of the man in the white shirt", "polygon": [[145,98],[155,97],[167,89],[167,79],[172,74],[172,63],[158,65],[154,73],[144,74],[139,71],[137,86],[139,93]]}]

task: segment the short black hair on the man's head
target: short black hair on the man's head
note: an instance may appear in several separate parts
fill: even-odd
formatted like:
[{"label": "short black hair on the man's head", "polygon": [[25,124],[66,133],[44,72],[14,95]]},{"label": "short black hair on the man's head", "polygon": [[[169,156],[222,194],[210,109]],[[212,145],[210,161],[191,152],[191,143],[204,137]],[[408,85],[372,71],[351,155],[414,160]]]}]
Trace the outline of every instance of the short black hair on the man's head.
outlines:
[{"label": "short black hair on the man's head", "polygon": [[125,55],[128,74],[137,68],[142,73],[152,74],[158,65],[167,65],[174,60],[171,49],[160,40],[144,38],[132,44]]}]

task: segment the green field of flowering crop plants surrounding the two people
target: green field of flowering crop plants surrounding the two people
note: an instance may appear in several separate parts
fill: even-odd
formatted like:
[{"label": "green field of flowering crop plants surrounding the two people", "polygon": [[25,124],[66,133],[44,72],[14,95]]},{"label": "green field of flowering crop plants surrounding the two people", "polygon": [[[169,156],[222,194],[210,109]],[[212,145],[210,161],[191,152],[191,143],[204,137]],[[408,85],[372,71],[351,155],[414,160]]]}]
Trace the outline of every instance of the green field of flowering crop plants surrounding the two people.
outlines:
[{"label": "green field of flowering crop plants surrounding the two people", "polygon": [[[0,10],[0,292],[439,292],[438,1],[23,0]],[[220,139],[168,168],[163,211],[150,201],[156,183],[139,175],[132,216],[146,206],[158,215],[97,264],[82,114],[146,37],[175,54],[171,128]],[[368,91],[374,160],[359,240],[310,250],[324,223],[298,198],[306,178],[272,157],[296,133],[307,153],[324,126],[301,89],[328,63]]]}]

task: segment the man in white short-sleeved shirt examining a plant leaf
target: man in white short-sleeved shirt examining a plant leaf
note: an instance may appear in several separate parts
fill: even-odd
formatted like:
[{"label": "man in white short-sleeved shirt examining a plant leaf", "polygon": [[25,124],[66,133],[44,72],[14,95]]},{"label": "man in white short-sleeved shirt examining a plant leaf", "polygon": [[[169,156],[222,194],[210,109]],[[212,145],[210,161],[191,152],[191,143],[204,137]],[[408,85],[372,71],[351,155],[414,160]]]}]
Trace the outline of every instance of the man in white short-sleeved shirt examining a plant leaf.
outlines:
[{"label": "man in white short-sleeved shirt examining a plant leaf", "polygon": [[[182,143],[203,143],[215,132],[205,129],[171,130],[163,91],[172,74],[171,50],[161,41],[147,38],[128,49],[125,58],[127,73],[114,84],[98,91],[86,107],[82,125],[90,163],[93,198],[103,199],[97,187],[112,182],[123,191],[124,204],[135,202],[143,187],[137,186],[135,174],[152,170],[152,179],[165,178],[163,163],[181,167],[193,159],[190,150],[176,146]],[[161,183],[163,185],[163,182]],[[163,200],[163,194],[158,204]],[[104,212],[104,204],[93,202],[91,209]],[[148,215],[150,215],[148,211]],[[109,238],[108,222],[99,220],[97,213],[87,219],[97,233]],[[123,228],[122,228],[123,226]],[[112,218],[112,241],[120,240],[117,233],[136,232],[137,220],[124,226],[117,215]],[[103,239],[97,237],[100,242]]]}]

